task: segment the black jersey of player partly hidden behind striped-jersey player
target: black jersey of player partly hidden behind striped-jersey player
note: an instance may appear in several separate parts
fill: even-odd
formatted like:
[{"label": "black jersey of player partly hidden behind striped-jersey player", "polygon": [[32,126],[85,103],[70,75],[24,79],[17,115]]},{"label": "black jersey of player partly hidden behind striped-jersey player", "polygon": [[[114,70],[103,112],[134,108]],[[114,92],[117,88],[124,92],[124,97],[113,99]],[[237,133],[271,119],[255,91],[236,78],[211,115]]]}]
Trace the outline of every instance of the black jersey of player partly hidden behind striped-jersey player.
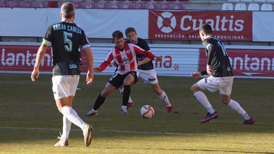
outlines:
[{"label": "black jersey of player partly hidden behind striped-jersey player", "polygon": [[[135,45],[139,46],[140,48],[142,48],[144,50],[150,51],[149,45],[147,44],[147,42],[144,39],[141,39],[141,38],[137,37],[136,42],[137,43]],[[131,43],[131,42],[129,40],[127,40],[125,43]],[[146,57],[141,56],[139,54],[137,54],[136,57],[137,57],[138,61],[142,61],[142,60],[144,60],[144,58],[146,58]],[[151,69],[154,69],[152,60],[149,61],[148,63],[144,63],[144,64],[138,66],[138,69],[141,69],[141,70],[151,70]]]}]

